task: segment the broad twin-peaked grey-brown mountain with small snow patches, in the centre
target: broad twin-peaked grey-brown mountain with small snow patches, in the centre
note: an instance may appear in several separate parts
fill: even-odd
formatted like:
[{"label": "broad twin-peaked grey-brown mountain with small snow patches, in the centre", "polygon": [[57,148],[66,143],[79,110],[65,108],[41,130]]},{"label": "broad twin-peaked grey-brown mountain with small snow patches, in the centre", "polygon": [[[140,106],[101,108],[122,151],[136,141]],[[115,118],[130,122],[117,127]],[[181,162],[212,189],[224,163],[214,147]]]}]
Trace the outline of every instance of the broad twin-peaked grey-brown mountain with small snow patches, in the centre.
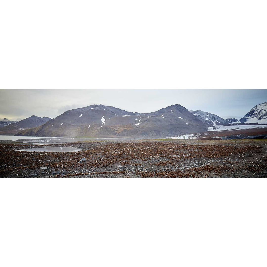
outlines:
[{"label": "broad twin-peaked grey-brown mountain with small snow patches, in the centre", "polygon": [[90,105],[68,110],[44,125],[16,135],[155,138],[203,132],[209,126],[178,104],[151,113]]}]

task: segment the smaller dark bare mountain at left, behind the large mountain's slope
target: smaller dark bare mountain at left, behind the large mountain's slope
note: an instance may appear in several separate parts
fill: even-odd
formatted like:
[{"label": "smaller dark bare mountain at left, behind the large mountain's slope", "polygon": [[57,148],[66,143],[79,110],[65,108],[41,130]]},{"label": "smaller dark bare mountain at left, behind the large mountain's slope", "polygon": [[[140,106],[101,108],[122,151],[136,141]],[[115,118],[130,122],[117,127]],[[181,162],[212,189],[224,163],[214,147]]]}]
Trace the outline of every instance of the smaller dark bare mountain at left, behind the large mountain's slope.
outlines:
[{"label": "smaller dark bare mountain at left, behind the large mountain's slope", "polygon": [[24,120],[20,120],[16,123],[11,123],[5,127],[2,127],[0,130],[0,135],[14,135],[18,131],[21,131],[22,129],[36,127],[36,126],[46,123],[49,120],[51,120],[51,118],[48,118],[48,117],[41,118],[41,117],[32,115],[29,118],[26,118]]}]

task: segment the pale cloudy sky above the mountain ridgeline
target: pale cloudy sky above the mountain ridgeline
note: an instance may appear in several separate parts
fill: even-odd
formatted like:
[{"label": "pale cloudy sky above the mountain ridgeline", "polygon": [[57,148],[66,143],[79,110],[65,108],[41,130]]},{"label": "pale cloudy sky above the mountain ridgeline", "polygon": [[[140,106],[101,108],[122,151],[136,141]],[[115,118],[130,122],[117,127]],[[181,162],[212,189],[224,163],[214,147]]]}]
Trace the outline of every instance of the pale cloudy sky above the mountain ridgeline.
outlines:
[{"label": "pale cloudy sky above the mountain ridgeline", "polygon": [[63,112],[103,104],[148,113],[180,104],[223,119],[240,119],[267,101],[267,89],[0,89],[0,119],[22,120],[32,115],[54,118]]}]

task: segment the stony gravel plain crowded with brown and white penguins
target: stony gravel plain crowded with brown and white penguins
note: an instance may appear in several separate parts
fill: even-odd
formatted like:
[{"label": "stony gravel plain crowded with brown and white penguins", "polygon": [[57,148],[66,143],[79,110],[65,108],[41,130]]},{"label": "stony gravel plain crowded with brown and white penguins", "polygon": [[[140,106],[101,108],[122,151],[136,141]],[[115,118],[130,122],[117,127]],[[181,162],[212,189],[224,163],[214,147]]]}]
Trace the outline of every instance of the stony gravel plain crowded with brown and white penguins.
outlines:
[{"label": "stony gravel plain crowded with brown and white penguins", "polygon": [[[127,140],[30,145],[1,141],[3,178],[265,178],[266,139]],[[78,152],[16,151],[72,146]]]}]

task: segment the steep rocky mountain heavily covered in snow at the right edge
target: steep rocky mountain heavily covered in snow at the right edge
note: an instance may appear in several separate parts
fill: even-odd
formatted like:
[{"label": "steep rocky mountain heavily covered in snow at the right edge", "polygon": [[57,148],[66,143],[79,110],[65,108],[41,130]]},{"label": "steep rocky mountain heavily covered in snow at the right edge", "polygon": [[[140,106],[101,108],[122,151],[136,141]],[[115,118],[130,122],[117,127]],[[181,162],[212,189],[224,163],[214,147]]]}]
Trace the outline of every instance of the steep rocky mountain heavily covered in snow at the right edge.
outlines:
[{"label": "steep rocky mountain heavily covered in snow at the right edge", "polygon": [[256,105],[240,121],[242,123],[267,123],[267,102]]}]

